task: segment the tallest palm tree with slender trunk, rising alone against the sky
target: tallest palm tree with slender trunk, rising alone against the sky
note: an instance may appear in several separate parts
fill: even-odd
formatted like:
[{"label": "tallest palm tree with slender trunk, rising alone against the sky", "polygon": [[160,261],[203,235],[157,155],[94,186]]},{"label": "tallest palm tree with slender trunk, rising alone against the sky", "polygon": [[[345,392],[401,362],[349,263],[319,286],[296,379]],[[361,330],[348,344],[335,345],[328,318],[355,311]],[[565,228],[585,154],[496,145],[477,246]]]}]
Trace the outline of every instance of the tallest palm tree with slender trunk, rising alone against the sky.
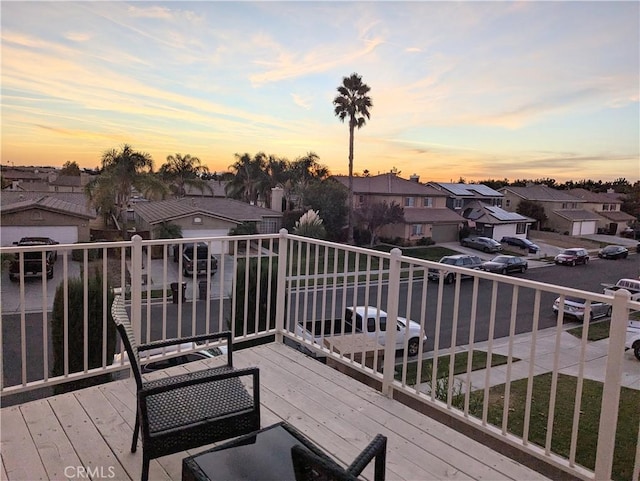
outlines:
[{"label": "tallest palm tree with slender trunk, rising alone against the sky", "polygon": [[347,242],[353,244],[353,132],[362,128],[365,117],[370,118],[369,109],[373,107],[367,93],[371,88],[362,83],[362,77],[356,73],[342,79],[338,87],[338,96],[333,99],[335,115],[344,122],[349,119],[349,212]]}]

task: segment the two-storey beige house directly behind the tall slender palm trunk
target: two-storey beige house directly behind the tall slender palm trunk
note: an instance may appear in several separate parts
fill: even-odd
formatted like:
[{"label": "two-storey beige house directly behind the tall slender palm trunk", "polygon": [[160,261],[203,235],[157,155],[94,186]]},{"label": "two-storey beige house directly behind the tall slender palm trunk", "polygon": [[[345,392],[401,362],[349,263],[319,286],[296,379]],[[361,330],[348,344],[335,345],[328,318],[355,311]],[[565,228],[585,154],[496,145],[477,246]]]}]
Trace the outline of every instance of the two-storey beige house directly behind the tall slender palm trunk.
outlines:
[{"label": "two-storey beige house directly behind the tall slender palm trunk", "polygon": [[[349,185],[347,176],[334,178],[345,186]],[[418,242],[425,237],[435,242],[458,240],[464,219],[447,208],[447,194],[421,184],[416,175],[411,180],[392,173],[354,177],[353,195],[355,209],[382,202],[395,202],[404,208],[404,224],[385,226],[380,232],[383,237],[401,237],[408,242]]]}]

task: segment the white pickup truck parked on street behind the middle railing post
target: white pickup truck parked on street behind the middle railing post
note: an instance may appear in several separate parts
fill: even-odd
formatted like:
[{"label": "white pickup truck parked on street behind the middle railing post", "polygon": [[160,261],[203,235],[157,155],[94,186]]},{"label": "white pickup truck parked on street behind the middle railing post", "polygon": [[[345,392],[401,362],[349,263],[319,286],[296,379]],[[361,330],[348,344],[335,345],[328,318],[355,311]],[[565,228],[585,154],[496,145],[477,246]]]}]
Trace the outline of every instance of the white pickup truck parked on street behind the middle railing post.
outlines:
[{"label": "white pickup truck parked on street behind the middle railing post", "polygon": [[[376,329],[377,325],[380,326],[379,329]],[[420,342],[427,340],[420,324],[404,317],[398,317],[396,328],[396,348],[398,350],[404,349],[405,339],[408,337],[407,354],[409,356],[418,354]],[[320,345],[325,337],[362,332],[377,339],[378,343],[384,346],[387,333],[387,313],[373,306],[347,307],[344,319],[299,321],[296,325],[296,334]]]}]

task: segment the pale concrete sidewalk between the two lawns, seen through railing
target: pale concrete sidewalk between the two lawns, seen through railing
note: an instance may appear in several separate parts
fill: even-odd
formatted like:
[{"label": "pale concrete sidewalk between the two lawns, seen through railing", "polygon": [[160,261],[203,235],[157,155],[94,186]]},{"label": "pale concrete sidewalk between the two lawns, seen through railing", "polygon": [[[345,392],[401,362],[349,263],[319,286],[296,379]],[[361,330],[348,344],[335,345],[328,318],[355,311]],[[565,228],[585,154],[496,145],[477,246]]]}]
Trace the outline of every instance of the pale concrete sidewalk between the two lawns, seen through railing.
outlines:
[{"label": "pale concrete sidewalk between the two lawns, seen through railing", "polygon": [[[536,349],[534,357],[531,357],[531,343],[533,335],[531,333],[519,334],[514,338],[512,347],[513,358],[519,359],[511,364],[510,379],[516,381],[529,377],[529,371],[533,368],[533,375],[544,374],[553,371],[556,345],[556,328],[549,328],[538,331],[536,339]],[[584,377],[593,381],[604,382],[606,376],[607,350],[609,339],[588,342],[584,350]],[[459,346],[458,351],[467,351],[469,346]],[[474,344],[474,350],[488,351],[488,342]],[[563,330],[560,333],[560,352],[558,353],[558,368],[561,374],[577,376],[581,365],[581,340]],[[492,352],[494,354],[509,355],[509,339],[496,339],[493,341]],[[449,354],[449,350],[441,351],[441,356]],[[491,368],[488,373],[489,385],[497,386],[504,384],[507,379],[508,365]],[[467,375],[461,374],[456,379],[462,382],[462,386],[467,383]],[[487,370],[480,369],[471,373],[471,386],[473,390],[484,389],[487,381]],[[640,362],[638,362],[631,351],[624,353],[622,361],[622,385],[631,389],[640,390]],[[420,390],[429,392],[429,385],[423,383]],[[464,389],[463,389],[464,391]]]}]

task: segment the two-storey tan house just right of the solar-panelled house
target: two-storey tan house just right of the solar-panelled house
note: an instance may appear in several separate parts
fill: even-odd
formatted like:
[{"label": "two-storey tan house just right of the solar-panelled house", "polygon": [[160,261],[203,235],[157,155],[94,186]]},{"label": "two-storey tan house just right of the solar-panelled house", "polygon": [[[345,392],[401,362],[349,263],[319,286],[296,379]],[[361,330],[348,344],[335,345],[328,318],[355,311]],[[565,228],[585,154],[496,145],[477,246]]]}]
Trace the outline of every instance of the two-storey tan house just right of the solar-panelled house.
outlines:
[{"label": "two-storey tan house just right of the solar-panelled house", "polygon": [[540,204],[547,216],[541,226],[567,235],[588,235],[597,232],[600,216],[585,208],[585,200],[569,194],[567,191],[552,189],[546,185],[527,187],[503,187],[503,208],[516,212],[518,204],[529,200]]}]

